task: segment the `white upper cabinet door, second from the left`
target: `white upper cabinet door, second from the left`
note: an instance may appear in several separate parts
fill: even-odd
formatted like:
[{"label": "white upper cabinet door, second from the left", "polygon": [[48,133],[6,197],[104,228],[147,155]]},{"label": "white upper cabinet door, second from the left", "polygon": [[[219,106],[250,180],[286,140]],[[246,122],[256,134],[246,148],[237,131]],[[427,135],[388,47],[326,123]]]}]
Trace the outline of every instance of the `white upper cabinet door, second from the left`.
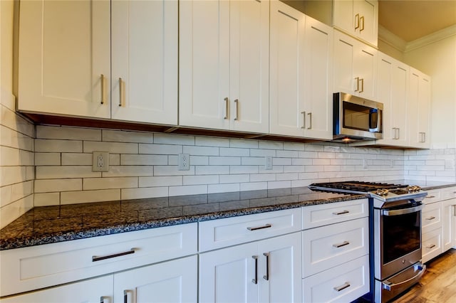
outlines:
[{"label": "white upper cabinet door, second from the left", "polygon": [[111,8],[112,118],[177,124],[177,1]]}]

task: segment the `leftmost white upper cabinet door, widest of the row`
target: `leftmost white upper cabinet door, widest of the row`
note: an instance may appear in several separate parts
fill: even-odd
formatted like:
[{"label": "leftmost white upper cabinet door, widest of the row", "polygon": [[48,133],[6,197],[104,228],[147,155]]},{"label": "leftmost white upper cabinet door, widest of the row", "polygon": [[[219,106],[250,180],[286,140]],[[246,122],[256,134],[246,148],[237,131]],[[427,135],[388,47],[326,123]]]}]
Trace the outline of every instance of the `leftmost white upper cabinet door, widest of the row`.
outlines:
[{"label": "leftmost white upper cabinet door, widest of the row", "polygon": [[22,1],[18,109],[110,117],[110,1]]}]

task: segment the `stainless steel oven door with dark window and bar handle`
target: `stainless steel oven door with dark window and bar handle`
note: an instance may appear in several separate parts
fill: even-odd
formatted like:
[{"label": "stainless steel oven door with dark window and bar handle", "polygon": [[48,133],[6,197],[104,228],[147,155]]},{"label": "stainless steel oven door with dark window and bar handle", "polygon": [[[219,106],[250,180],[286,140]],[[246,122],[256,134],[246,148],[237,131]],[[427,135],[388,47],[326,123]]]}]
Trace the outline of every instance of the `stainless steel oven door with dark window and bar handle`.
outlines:
[{"label": "stainless steel oven door with dark window and bar handle", "polygon": [[374,272],[384,280],[421,260],[421,203],[374,209]]}]

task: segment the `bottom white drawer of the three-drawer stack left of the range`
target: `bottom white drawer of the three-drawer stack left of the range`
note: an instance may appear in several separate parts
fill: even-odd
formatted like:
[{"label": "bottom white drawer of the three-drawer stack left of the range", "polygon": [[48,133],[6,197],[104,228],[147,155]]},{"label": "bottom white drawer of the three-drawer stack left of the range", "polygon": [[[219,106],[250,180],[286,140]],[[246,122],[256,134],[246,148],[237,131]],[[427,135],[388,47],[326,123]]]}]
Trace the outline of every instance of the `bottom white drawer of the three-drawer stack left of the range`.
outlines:
[{"label": "bottom white drawer of the three-drawer stack left of the range", "polygon": [[351,302],[367,292],[367,255],[303,280],[304,302]]}]

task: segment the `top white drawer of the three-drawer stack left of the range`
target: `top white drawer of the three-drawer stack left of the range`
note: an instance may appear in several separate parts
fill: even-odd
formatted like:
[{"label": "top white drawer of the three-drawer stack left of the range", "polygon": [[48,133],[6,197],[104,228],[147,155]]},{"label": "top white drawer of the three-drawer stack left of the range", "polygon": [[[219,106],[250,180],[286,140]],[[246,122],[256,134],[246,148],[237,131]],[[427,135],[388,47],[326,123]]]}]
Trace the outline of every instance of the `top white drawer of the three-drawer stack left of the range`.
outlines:
[{"label": "top white drawer of the three-drawer stack left of the range", "polygon": [[367,217],[368,199],[328,203],[302,208],[303,229]]}]

